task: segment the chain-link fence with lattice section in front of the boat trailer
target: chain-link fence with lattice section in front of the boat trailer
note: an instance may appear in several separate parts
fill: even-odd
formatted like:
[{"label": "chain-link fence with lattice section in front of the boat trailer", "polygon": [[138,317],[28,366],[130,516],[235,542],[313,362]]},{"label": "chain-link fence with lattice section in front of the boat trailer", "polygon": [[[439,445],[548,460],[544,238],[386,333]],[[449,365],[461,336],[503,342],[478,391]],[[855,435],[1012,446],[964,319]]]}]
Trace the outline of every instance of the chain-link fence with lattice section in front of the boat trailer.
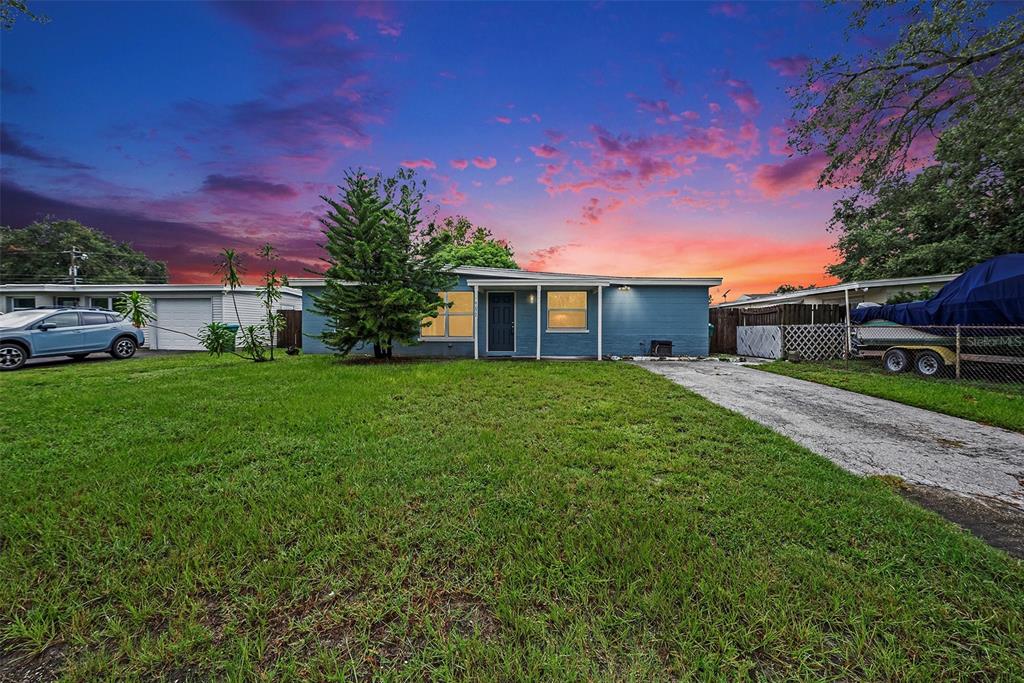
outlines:
[{"label": "chain-link fence with lattice section in front of the boat trailer", "polygon": [[998,384],[1024,392],[1024,327],[780,326],[782,357],[842,360],[897,375]]}]

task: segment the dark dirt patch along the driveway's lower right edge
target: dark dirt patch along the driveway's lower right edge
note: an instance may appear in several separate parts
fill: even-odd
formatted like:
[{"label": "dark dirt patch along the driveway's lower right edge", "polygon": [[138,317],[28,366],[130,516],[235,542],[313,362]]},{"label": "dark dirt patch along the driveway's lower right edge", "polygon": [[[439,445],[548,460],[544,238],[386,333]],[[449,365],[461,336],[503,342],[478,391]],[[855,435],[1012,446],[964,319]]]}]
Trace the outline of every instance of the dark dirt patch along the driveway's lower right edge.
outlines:
[{"label": "dark dirt patch along the driveway's lower right edge", "polygon": [[1024,510],[998,501],[980,501],[943,488],[903,482],[904,498],[937,512],[989,545],[1024,559]]}]

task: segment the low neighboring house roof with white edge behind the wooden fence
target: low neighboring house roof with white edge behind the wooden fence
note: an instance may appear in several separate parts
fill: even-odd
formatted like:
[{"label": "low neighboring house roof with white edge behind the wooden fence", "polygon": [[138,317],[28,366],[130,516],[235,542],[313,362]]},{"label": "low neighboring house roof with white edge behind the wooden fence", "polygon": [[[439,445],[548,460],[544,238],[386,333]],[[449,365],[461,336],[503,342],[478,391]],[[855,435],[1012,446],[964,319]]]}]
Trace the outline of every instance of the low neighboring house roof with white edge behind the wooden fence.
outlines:
[{"label": "low neighboring house roof with white edge behind the wooden fence", "polygon": [[942,286],[957,278],[951,275],[923,275],[920,278],[892,278],[889,280],[864,280],[857,283],[843,283],[827,287],[812,287],[785,294],[744,294],[735,301],[720,303],[716,308],[761,308],[780,303],[835,303],[846,304],[846,293],[850,293],[850,305],[856,306],[865,301],[885,303],[889,297],[900,292],[920,292],[927,287],[933,293]]}]

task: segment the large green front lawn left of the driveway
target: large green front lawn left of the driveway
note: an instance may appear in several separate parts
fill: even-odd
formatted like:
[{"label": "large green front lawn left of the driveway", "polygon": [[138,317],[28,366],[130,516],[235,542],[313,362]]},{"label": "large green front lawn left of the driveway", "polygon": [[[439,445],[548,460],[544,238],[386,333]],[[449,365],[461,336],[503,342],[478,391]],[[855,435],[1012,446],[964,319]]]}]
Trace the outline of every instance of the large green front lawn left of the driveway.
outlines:
[{"label": "large green front lawn left of the driveway", "polygon": [[195,355],[0,395],[0,672],[1024,671],[1024,563],[637,367]]}]

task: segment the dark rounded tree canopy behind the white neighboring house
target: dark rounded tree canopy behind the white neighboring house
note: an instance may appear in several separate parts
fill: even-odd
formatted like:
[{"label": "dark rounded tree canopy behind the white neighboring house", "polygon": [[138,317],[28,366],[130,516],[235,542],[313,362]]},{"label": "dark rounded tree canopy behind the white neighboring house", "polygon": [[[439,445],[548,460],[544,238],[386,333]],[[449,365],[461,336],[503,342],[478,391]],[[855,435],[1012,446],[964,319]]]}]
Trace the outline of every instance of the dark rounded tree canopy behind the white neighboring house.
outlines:
[{"label": "dark rounded tree canopy behind the white neighboring house", "polygon": [[77,247],[80,282],[87,284],[166,283],[167,264],[154,261],[126,242],[75,220],[42,220],[20,228],[0,226],[0,283],[69,282],[68,254]]}]

